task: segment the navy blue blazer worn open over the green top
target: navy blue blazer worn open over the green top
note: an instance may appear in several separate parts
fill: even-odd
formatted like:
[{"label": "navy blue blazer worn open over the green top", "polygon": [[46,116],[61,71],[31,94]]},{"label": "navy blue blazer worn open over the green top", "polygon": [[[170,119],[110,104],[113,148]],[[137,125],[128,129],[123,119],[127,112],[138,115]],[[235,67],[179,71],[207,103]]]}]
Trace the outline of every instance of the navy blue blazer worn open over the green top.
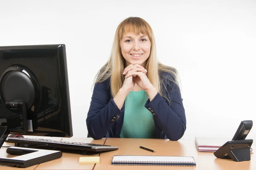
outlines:
[{"label": "navy blue blazer worn open over the green top", "polygon": [[[157,93],[152,101],[147,100],[145,108],[154,117],[156,138],[176,141],[183,136],[186,130],[185,110],[180,89],[174,82],[167,83],[166,81],[169,80],[165,76],[172,77],[172,75],[166,72],[159,73],[160,79],[166,85],[166,88],[162,88],[163,94],[169,99],[170,104]],[[105,135],[106,137],[120,138],[124,111],[124,105],[120,110],[113,101],[110,79],[96,83],[86,119],[89,135],[93,139],[102,139]]]}]

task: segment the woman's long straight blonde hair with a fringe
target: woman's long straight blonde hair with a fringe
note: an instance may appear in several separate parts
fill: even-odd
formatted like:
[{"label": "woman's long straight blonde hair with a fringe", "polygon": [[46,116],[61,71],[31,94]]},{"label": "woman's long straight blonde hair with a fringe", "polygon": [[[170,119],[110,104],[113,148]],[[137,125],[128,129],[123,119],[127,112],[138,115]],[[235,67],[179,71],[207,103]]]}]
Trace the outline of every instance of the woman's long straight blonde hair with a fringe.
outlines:
[{"label": "woman's long straight blonde hair with a fringe", "polygon": [[[129,32],[132,32],[136,35],[148,35],[148,38],[151,42],[151,51],[148,59],[145,61],[145,69],[148,70],[147,76],[159,94],[169,101],[166,96],[169,94],[163,94],[163,88],[166,88],[167,90],[168,85],[165,84],[166,82],[174,82],[177,86],[179,86],[177,70],[173,67],[163,65],[157,60],[156,45],[152,28],[145,20],[140,17],[129,17],[119,24],[116,29],[110,58],[108,59],[108,62],[96,74],[93,85],[98,82],[104,82],[108,78],[111,78],[111,94],[113,97],[116,96],[119,89],[122,88],[123,82],[125,80],[124,76],[122,75],[122,71],[125,69],[125,59],[122,57],[120,40],[122,40],[124,34]],[[172,76],[166,74],[162,75],[162,77],[159,77],[160,71],[170,73]]]}]

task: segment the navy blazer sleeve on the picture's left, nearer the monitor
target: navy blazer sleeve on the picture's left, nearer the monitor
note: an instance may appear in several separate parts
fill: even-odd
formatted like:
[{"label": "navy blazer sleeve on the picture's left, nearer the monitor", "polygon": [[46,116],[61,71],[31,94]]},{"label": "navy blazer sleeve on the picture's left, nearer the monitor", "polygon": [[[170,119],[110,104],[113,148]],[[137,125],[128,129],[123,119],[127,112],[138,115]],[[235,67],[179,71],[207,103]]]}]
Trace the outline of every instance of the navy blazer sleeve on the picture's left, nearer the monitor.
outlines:
[{"label": "navy blazer sleeve on the picture's left, nearer the monitor", "polygon": [[94,85],[86,125],[93,139],[102,139],[124,110],[120,110],[111,98],[105,82]]}]

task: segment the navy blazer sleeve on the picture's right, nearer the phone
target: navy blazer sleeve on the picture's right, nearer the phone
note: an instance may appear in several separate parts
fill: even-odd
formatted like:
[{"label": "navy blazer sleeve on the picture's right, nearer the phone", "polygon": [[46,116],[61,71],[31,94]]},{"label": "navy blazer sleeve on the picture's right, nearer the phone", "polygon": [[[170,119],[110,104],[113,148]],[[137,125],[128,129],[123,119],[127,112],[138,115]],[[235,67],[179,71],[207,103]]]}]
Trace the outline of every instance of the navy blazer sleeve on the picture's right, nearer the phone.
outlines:
[{"label": "navy blazer sleeve on the picture's right, nearer the phone", "polygon": [[151,101],[145,103],[147,108],[163,130],[166,138],[176,141],[179,140],[186,130],[186,116],[181,98],[180,89],[175,83],[171,83],[167,88],[168,102],[159,93]]}]

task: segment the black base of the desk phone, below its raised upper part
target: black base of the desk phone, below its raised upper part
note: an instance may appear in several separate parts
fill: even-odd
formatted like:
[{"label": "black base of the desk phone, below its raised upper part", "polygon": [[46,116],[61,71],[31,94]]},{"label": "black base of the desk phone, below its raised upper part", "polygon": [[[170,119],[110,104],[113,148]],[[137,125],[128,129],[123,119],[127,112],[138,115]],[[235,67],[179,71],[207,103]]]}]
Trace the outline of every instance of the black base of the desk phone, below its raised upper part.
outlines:
[{"label": "black base of the desk phone, below its raised upper part", "polygon": [[214,155],[217,158],[232,159],[233,161],[250,161],[250,147],[253,139],[228,141]]}]

